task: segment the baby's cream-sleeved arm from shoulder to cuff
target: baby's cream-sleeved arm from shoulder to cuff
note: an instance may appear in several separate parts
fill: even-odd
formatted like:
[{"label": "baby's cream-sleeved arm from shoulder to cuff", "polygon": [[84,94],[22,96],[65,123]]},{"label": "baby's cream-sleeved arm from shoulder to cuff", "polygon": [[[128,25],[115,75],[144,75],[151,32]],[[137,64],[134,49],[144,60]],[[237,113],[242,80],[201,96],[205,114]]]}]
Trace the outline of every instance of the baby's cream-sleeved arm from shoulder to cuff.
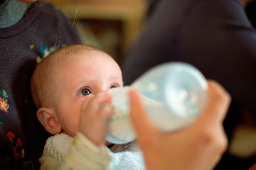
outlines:
[{"label": "baby's cream-sleeved arm from shoulder to cuff", "polygon": [[100,149],[80,132],[73,140],[71,137],[71,140],[66,138],[67,135],[57,135],[47,140],[39,159],[40,169],[107,169],[112,159],[107,147]]}]

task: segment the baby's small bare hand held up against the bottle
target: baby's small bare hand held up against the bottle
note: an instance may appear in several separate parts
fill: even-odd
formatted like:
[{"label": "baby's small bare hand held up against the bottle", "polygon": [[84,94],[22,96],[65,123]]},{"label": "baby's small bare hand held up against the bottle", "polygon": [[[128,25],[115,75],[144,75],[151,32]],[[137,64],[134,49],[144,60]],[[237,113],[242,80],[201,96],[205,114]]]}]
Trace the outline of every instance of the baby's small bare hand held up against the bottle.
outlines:
[{"label": "baby's small bare hand held up against the bottle", "polygon": [[88,97],[82,105],[78,131],[99,147],[105,143],[108,134],[108,122],[113,113],[110,105],[101,106],[101,104],[111,101],[112,98],[107,91]]}]

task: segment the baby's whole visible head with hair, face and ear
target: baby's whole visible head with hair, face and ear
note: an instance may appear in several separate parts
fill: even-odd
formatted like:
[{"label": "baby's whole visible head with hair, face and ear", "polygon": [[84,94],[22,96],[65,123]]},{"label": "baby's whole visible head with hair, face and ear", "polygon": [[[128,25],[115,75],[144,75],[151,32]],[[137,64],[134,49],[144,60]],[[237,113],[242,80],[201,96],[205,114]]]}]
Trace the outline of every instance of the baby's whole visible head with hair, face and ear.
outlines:
[{"label": "baby's whole visible head with hair, face and ear", "polygon": [[38,120],[53,135],[63,131],[75,136],[84,100],[122,86],[118,64],[99,49],[82,44],[55,51],[36,66],[31,78]]}]

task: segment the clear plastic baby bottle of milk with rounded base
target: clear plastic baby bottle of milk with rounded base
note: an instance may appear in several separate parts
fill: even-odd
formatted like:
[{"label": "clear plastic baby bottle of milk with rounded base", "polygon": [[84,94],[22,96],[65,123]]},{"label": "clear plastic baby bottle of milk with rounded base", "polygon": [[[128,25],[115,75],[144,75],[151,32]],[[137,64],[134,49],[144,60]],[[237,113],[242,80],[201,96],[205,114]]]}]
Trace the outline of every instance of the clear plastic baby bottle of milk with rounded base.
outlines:
[{"label": "clear plastic baby bottle of milk with rounded base", "polygon": [[181,129],[197,118],[207,102],[208,84],[203,74],[187,63],[158,65],[136,79],[131,86],[111,89],[113,116],[107,140],[124,144],[136,138],[130,120],[128,92],[133,88],[151,123],[161,131]]}]

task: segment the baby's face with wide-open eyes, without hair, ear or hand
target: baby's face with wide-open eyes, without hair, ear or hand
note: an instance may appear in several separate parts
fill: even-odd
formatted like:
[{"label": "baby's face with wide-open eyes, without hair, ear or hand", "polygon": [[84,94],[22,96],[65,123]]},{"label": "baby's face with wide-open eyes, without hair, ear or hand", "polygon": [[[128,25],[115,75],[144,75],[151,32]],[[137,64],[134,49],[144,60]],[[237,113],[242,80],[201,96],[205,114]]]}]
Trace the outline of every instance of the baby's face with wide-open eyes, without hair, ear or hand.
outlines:
[{"label": "baby's face with wide-open eyes, without hair, ear or hand", "polygon": [[53,109],[63,132],[75,136],[81,115],[81,106],[90,95],[110,88],[122,87],[122,72],[107,54],[68,56],[56,66]]}]

